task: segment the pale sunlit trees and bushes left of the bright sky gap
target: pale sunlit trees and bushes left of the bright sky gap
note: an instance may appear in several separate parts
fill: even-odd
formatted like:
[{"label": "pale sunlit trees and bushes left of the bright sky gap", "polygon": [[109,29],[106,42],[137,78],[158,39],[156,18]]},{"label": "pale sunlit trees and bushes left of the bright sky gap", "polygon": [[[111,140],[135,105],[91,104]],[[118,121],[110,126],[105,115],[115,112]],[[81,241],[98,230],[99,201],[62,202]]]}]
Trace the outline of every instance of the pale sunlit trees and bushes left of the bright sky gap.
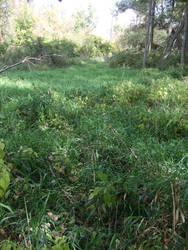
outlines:
[{"label": "pale sunlit trees and bushes left of the bright sky gap", "polygon": [[110,42],[92,33],[95,17],[91,6],[67,17],[66,13],[58,16],[55,6],[36,10],[20,3],[18,11],[14,1],[0,3],[4,11],[0,17],[2,66],[26,56],[42,58],[35,61],[37,65],[68,66],[77,63],[79,57],[107,56],[112,51]]}]

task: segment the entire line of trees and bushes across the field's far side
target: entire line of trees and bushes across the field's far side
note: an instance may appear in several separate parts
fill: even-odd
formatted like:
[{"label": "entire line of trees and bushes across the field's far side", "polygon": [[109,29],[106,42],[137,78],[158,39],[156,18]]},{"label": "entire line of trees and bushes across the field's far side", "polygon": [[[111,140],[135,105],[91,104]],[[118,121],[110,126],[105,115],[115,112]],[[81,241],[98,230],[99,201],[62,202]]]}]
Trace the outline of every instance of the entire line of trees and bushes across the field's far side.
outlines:
[{"label": "entire line of trees and bushes across the field's far side", "polygon": [[29,56],[43,58],[35,61],[37,66],[61,67],[78,63],[80,57],[110,57],[112,67],[181,65],[186,70],[187,1],[120,0],[114,13],[128,9],[136,12],[136,22],[128,28],[114,26],[109,42],[93,35],[92,6],[68,17],[55,5],[41,10],[27,1],[0,0],[0,64],[11,65]]}]

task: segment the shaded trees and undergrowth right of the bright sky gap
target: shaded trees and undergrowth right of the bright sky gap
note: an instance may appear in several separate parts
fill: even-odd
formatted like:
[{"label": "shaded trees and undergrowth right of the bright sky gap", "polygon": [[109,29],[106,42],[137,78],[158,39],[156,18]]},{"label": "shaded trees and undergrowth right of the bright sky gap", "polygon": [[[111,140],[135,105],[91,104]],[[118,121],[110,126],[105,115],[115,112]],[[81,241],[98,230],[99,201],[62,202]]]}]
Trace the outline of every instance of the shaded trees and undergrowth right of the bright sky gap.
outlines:
[{"label": "shaded trees and undergrowth right of the bright sky gap", "polygon": [[185,67],[188,51],[186,0],[121,0],[116,6],[117,14],[134,10],[137,23],[125,30],[116,27],[120,53],[112,58],[112,65],[146,67],[181,64]]}]

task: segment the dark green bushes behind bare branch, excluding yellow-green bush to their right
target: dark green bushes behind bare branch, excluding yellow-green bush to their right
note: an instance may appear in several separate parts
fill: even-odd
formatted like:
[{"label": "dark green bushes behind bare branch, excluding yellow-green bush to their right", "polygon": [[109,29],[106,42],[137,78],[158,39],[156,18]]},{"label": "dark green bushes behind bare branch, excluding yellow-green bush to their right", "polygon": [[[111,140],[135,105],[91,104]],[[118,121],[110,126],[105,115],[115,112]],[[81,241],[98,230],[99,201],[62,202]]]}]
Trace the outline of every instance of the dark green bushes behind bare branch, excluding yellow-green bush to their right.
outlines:
[{"label": "dark green bushes behind bare branch, excluding yellow-green bush to their right", "polygon": [[40,64],[64,67],[75,64],[74,58],[78,57],[79,53],[78,46],[72,41],[66,39],[46,41],[41,37],[33,38],[22,46],[14,41],[9,46],[2,44],[0,47],[0,58],[5,64],[13,64],[26,56],[47,56]]}]

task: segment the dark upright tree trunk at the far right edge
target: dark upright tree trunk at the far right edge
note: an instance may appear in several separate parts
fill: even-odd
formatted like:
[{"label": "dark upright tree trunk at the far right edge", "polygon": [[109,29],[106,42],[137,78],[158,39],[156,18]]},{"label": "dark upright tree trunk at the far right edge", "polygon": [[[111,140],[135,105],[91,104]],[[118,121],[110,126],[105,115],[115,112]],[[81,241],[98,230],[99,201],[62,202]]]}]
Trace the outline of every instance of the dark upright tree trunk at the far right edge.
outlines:
[{"label": "dark upright tree trunk at the far right edge", "polygon": [[185,6],[184,9],[184,34],[183,34],[183,42],[182,42],[182,49],[181,49],[181,65],[184,67],[185,65],[185,57],[187,52],[187,43],[188,43],[188,4]]}]

